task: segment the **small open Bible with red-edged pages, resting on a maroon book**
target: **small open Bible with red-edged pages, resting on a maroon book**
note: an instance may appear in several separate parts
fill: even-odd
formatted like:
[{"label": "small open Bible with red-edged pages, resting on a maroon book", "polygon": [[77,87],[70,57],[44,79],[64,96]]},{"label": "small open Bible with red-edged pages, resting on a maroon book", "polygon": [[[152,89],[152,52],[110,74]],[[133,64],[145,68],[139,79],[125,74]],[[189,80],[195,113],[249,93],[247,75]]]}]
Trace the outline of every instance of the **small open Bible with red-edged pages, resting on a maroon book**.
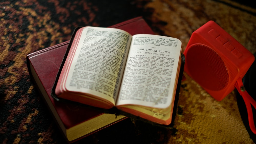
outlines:
[{"label": "small open Bible with red-edged pages, resting on a maroon book", "polygon": [[169,125],[180,64],[176,38],[83,27],[75,33],[55,94]]}]

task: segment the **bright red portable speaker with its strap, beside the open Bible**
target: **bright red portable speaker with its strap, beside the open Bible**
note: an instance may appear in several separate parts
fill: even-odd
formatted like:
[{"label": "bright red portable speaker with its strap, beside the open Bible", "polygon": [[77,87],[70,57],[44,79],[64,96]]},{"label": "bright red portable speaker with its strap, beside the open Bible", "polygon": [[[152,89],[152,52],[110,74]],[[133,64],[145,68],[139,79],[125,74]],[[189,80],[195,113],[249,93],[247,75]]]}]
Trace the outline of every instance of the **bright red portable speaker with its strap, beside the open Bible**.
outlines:
[{"label": "bright red portable speaker with its strap, beside the open Bible", "polygon": [[[253,98],[240,90],[254,56],[214,21],[193,32],[184,55],[184,71],[216,100],[221,101],[236,87],[244,100],[256,107]],[[251,129],[256,134],[254,123]]]}]

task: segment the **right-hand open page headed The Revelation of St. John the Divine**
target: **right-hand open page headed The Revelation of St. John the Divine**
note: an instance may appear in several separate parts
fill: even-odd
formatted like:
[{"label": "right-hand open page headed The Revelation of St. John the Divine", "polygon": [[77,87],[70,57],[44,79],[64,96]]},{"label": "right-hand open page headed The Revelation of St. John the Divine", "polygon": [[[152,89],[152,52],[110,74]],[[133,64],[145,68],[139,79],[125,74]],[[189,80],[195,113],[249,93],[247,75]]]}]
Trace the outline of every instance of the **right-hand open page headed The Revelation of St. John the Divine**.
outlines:
[{"label": "right-hand open page headed The Revelation of St. John the Divine", "polygon": [[134,35],[117,105],[167,108],[174,99],[181,42],[157,35]]}]

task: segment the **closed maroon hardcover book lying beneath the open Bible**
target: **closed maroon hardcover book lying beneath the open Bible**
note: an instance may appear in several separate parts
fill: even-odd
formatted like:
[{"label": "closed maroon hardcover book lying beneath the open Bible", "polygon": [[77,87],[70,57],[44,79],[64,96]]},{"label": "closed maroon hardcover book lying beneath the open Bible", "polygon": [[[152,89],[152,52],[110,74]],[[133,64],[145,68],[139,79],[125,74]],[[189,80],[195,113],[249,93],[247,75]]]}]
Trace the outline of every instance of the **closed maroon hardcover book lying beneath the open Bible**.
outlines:
[{"label": "closed maroon hardcover book lying beneath the open Bible", "polygon": [[[111,26],[130,34],[154,34],[142,17]],[[55,101],[51,97],[56,76],[65,56],[69,41],[27,55],[27,65],[31,79],[41,92],[57,124],[70,142],[88,136],[110,126],[125,116],[106,114],[90,107],[74,103]]]}]

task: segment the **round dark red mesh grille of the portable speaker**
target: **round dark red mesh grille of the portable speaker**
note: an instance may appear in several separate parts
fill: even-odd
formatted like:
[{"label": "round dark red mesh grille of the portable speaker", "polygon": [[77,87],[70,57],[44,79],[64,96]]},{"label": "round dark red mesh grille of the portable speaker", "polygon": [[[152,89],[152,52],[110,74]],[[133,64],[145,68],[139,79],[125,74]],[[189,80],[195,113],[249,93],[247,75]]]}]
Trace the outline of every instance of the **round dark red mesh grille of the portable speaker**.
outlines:
[{"label": "round dark red mesh grille of the portable speaker", "polygon": [[227,86],[227,67],[211,48],[199,44],[191,45],[187,51],[186,63],[190,76],[202,87],[219,91]]}]

